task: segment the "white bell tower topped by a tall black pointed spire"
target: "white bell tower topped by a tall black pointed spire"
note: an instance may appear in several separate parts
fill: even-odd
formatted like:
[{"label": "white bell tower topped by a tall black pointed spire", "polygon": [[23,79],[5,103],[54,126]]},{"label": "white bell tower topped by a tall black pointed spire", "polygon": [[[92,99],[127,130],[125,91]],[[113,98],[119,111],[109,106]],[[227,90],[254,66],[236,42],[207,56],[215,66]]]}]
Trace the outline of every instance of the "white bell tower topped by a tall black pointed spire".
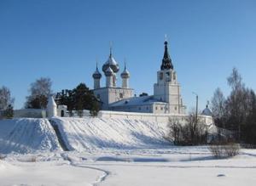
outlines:
[{"label": "white bell tower topped by a tall black pointed spire", "polygon": [[180,85],[177,82],[177,74],[172,65],[172,59],[168,52],[168,42],[165,41],[165,52],[157,72],[157,83],[154,83],[154,99],[166,102],[166,112],[172,114],[184,114],[185,106],[180,93]]}]

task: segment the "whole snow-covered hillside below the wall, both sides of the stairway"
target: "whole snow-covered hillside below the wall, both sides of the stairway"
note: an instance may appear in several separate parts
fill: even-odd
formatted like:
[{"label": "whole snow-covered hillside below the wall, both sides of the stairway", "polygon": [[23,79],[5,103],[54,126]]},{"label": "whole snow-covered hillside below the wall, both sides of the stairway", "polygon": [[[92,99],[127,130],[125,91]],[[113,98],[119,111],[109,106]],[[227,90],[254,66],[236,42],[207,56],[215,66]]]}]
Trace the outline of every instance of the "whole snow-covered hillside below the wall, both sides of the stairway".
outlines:
[{"label": "whole snow-covered hillside below the wall, both sides of the stairway", "polygon": [[[0,153],[38,150],[140,149],[166,145],[165,130],[158,123],[101,118],[54,118],[0,121]],[[58,133],[60,132],[60,133]],[[61,140],[60,140],[61,138]],[[62,145],[63,147],[63,145]]]}]

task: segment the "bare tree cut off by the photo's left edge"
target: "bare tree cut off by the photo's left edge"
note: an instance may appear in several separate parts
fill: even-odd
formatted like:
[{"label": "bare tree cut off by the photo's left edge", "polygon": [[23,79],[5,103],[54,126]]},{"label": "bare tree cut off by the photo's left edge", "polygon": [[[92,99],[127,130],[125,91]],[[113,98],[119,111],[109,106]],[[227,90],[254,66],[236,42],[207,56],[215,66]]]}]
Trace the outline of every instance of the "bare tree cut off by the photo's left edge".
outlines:
[{"label": "bare tree cut off by the photo's left edge", "polygon": [[13,105],[15,99],[11,97],[11,93],[8,87],[0,88],[0,110],[6,110],[9,105]]}]

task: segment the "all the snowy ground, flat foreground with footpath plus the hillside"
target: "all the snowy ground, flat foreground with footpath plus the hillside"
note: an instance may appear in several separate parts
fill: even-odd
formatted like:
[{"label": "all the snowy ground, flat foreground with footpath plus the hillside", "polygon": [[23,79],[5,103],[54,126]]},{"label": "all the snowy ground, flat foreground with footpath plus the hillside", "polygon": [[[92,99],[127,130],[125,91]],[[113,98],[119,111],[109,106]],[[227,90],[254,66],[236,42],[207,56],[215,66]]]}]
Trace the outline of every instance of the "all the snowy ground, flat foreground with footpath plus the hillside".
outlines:
[{"label": "all the snowy ground, flat foreground with footpath plus the hillside", "polygon": [[91,118],[54,122],[67,148],[75,150],[61,150],[47,120],[0,121],[1,186],[256,183],[255,149],[215,160],[207,146],[167,145],[164,127],[157,123]]}]

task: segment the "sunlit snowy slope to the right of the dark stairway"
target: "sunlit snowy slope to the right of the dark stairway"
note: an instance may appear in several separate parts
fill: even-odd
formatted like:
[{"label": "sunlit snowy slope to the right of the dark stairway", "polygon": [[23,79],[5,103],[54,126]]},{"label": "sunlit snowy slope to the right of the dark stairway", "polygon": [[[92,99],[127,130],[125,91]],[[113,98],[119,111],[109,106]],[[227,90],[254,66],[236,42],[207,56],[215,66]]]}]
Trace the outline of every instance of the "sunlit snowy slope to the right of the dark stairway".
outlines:
[{"label": "sunlit snowy slope to the right of the dark stairway", "polygon": [[55,118],[68,149],[139,149],[167,144],[158,123],[124,119]]}]

